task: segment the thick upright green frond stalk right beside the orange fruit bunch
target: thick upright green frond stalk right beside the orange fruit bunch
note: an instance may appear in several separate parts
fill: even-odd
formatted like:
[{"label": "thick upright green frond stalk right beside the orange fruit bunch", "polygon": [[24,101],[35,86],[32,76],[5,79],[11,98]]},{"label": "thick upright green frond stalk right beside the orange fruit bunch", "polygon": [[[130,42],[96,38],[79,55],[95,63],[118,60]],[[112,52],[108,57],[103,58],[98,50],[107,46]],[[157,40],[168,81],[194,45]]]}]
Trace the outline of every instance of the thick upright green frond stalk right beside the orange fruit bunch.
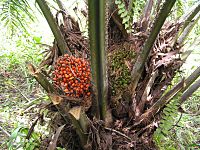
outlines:
[{"label": "thick upright green frond stalk right beside the orange fruit bunch", "polygon": [[107,76],[105,57],[105,0],[89,0],[89,38],[93,90],[97,117],[105,119],[107,101]]}]

